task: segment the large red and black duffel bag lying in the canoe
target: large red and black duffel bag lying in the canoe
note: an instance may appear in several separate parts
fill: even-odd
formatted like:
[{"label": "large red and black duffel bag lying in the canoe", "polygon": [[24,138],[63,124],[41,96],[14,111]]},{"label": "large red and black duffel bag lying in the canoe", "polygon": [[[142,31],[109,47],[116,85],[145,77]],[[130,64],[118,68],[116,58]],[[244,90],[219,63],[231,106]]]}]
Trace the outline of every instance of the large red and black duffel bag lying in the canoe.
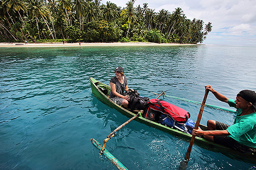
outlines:
[{"label": "large red and black duffel bag lying in the canoe", "polygon": [[184,109],[159,99],[150,99],[143,115],[154,121],[160,116],[159,112],[171,116],[178,123],[186,123],[190,117],[190,113]]}]

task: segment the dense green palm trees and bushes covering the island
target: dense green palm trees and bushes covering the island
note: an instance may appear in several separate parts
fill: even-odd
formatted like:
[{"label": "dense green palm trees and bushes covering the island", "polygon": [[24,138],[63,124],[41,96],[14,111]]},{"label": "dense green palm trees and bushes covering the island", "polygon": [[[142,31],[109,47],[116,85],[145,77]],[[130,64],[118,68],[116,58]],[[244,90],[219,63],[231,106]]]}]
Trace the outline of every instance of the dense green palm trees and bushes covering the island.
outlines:
[{"label": "dense green palm trees and bushes covering the island", "polygon": [[101,0],[0,0],[0,41],[203,42],[211,23],[189,20],[181,8],[154,12]]}]

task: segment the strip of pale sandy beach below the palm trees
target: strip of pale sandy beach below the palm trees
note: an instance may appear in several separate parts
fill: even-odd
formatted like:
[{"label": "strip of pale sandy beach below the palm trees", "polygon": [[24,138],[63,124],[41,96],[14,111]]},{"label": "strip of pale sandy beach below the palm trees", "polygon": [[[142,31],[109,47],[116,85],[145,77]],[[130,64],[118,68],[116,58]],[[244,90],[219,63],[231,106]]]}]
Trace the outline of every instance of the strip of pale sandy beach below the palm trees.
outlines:
[{"label": "strip of pale sandy beach below the palm trees", "polygon": [[[196,44],[176,44],[176,43],[154,43],[154,42],[81,42],[81,47],[93,46],[174,46],[174,45],[196,45]],[[46,42],[46,43],[12,43],[0,42],[0,47],[79,47],[79,42]]]}]

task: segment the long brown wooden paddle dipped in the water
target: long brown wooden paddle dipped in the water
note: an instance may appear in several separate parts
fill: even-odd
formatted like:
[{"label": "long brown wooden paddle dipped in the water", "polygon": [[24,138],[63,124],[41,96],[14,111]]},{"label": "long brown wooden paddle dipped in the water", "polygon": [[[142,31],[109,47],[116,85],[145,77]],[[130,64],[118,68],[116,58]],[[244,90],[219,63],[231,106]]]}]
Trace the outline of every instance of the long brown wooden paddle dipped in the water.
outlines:
[{"label": "long brown wooden paddle dipped in the water", "polygon": [[[201,104],[200,111],[198,113],[198,118],[197,118],[196,123],[195,123],[195,129],[198,129],[198,127],[199,127],[199,124],[200,124],[200,121],[201,121],[201,118],[202,118],[202,115],[203,115],[204,105],[205,105],[208,93],[209,93],[209,90],[206,89],[205,93],[204,93],[204,99],[203,99],[203,102]],[[185,161],[180,163],[180,170],[186,170],[187,163],[189,161],[189,157],[190,157],[190,153],[191,153],[194,141],[195,141],[195,135],[192,135],[192,138],[191,138],[190,143],[189,143],[189,148],[188,148],[188,150],[186,152]]]}]

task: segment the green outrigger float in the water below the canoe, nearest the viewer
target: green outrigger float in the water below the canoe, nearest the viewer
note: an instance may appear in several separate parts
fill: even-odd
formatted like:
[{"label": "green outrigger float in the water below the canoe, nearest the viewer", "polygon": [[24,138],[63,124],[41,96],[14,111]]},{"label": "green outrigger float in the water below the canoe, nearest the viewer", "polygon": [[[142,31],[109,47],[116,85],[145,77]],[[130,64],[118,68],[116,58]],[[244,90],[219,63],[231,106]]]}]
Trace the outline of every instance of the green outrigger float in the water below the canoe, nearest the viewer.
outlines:
[{"label": "green outrigger float in the water below the canoe, nearest the viewer", "polygon": [[[93,145],[101,150],[102,145],[95,139],[90,139]],[[116,159],[108,150],[104,150],[103,155],[108,158],[119,170],[128,170],[118,159]]]}]

